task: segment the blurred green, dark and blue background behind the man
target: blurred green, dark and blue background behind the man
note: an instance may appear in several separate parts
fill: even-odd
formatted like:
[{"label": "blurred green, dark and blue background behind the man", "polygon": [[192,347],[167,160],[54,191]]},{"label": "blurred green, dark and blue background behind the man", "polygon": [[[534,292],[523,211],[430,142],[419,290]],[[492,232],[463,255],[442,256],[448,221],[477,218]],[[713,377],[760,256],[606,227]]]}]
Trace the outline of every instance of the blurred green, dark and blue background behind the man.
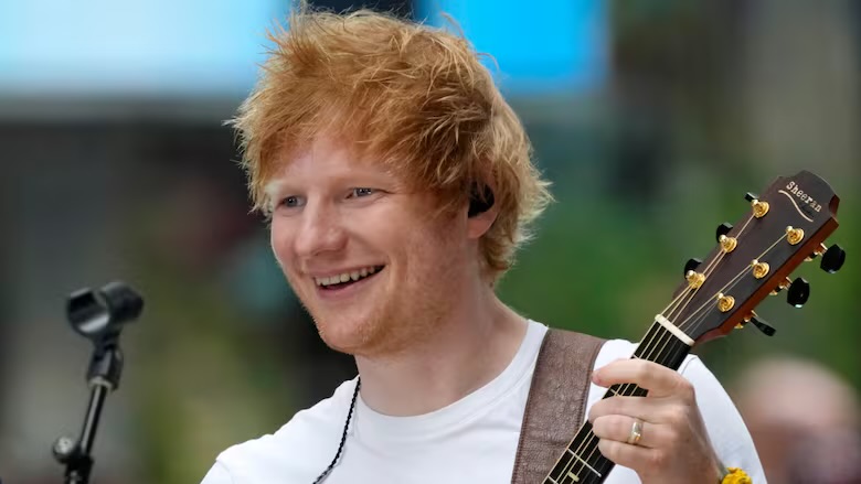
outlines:
[{"label": "blurred green, dark and blue background behind the man", "polygon": [[[861,3],[369,4],[434,24],[448,12],[496,57],[559,201],[500,288],[535,320],[637,341],[684,261],[747,213],[745,192],[801,169],[828,180],[843,270],[804,265],[801,310],[765,301],[775,337],[747,327],[697,353],[742,408],[770,482],[861,482]],[[222,125],[288,11],[287,0],[0,2],[7,484],[62,482],[50,447],[79,430],[88,396],[91,347],[64,314],[81,287],[121,279],[147,301],[124,333],[94,483],[199,482],[221,450],[354,375],[277,269]]]}]

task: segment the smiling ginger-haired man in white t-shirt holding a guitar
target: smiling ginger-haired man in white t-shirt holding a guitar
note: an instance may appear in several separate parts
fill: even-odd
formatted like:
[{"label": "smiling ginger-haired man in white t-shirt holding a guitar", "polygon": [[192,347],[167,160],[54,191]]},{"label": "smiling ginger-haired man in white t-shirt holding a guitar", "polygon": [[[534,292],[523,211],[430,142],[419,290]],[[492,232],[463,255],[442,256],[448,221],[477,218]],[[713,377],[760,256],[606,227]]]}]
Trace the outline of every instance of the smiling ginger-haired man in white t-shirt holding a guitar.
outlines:
[{"label": "smiling ginger-haired man in white t-shirt holding a guitar", "polygon": [[[447,32],[302,9],[273,40],[234,121],[243,164],[278,263],[359,376],[224,451],[204,484],[511,482],[549,333],[495,292],[550,200],[523,127]],[[588,420],[617,464],[605,482],[715,483],[725,464],[764,483],[702,363],[676,373],[634,347],[608,341],[583,362]],[[649,395],[600,400],[616,383]]]}]

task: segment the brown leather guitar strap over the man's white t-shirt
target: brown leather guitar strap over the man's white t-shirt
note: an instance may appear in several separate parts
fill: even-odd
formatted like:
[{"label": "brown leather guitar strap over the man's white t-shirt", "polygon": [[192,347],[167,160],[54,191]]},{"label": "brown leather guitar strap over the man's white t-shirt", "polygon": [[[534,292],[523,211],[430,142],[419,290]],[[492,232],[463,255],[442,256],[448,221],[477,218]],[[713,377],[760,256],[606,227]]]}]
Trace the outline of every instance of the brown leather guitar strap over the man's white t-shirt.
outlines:
[{"label": "brown leather guitar strap over the man's white t-shirt", "polygon": [[549,330],[523,413],[512,484],[540,484],[583,423],[592,368],[604,340]]}]

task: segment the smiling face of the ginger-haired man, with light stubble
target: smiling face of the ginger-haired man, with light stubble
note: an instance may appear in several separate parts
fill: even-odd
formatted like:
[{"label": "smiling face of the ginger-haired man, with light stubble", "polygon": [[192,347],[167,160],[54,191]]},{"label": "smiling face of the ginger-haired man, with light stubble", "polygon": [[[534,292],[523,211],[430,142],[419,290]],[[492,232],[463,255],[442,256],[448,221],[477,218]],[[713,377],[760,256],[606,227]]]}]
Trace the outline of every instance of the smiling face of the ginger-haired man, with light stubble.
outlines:
[{"label": "smiling face of the ginger-haired man, with light stubble", "polygon": [[434,215],[433,194],[326,138],[284,163],[269,197],[275,256],[334,349],[401,352],[480,278],[479,223],[466,209]]}]

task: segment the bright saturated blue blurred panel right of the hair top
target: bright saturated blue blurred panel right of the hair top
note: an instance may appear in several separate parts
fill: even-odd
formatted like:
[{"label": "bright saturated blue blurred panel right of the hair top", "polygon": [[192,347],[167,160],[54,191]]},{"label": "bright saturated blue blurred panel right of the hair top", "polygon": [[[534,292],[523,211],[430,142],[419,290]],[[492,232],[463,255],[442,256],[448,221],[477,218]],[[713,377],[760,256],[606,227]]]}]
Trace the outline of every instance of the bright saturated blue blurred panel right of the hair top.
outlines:
[{"label": "bright saturated blue blurred panel right of the hair top", "polygon": [[454,17],[479,52],[496,57],[509,93],[577,93],[607,78],[604,0],[419,0],[416,17],[447,25],[440,12]]}]

